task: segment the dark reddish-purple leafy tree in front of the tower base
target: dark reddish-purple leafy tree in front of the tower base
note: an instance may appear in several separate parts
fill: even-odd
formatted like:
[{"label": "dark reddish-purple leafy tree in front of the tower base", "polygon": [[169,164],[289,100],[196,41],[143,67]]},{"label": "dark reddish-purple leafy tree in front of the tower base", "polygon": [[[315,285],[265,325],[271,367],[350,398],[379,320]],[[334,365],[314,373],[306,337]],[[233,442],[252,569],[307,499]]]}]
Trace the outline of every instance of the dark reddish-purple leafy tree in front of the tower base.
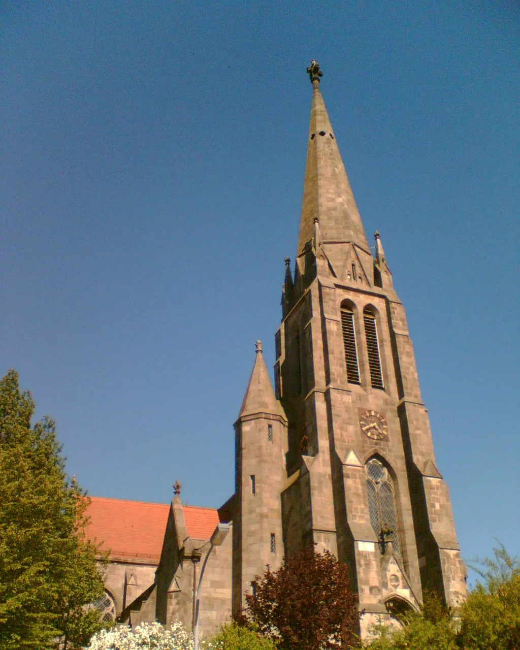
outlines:
[{"label": "dark reddish-purple leafy tree in front of the tower base", "polygon": [[312,547],[294,554],[278,571],[266,567],[246,596],[246,618],[283,650],[322,650],[356,645],[357,595],[346,566]]}]

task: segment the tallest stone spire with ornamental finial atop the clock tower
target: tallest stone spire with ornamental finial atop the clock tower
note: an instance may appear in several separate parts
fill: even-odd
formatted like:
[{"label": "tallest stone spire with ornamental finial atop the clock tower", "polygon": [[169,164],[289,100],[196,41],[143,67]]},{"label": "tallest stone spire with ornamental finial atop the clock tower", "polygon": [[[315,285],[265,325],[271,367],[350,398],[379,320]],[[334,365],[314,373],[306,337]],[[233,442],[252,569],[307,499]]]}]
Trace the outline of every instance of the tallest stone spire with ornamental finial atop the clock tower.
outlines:
[{"label": "tallest stone spire with ornamental finial atop the clock tower", "polygon": [[307,73],[313,85],[313,99],[298,255],[302,255],[305,245],[313,238],[313,223],[316,217],[320,221],[324,243],[354,242],[370,253],[367,235],[320,93],[322,72],[315,60],[307,68]]}]

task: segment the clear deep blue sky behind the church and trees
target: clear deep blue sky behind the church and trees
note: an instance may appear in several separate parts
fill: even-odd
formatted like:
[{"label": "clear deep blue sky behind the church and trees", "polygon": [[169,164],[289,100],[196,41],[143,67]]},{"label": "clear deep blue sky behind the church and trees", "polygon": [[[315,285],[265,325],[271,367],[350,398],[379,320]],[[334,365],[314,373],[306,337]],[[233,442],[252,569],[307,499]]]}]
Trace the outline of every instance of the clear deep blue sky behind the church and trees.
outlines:
[{"label": "clear deep blue sky behind the church and trees", "polygon": [[462,554],[519,546],[517,3],[5,2],[0,371],[92,495],[234,489],[310,59],[408,313]]}]

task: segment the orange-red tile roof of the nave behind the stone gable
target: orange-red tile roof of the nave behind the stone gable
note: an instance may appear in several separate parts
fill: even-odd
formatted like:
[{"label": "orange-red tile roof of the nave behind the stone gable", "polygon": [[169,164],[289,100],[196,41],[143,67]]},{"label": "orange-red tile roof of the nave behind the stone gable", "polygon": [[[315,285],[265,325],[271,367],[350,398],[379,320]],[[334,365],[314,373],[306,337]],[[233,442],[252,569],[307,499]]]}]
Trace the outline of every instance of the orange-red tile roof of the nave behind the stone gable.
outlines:
[{"label": "orange-red tile roof of the nave behind the stone gable", "polygon": [[[188,535],[208,539],[218,524],[214,508],[183,506]],[[161,559],[162,541],[170,504],[90,497],[86,511],[90,522],[86,534],[110,551],[110,558],[156,564]]]}]

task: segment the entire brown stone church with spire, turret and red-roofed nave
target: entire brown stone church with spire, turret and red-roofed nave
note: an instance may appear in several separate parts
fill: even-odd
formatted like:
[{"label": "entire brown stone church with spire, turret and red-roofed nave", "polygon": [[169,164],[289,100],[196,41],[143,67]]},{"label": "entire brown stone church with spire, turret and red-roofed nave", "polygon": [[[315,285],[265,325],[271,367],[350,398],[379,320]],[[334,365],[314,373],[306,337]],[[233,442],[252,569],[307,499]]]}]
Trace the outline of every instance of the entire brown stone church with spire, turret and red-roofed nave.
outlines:
[{"label": "entire brown stone church with spire, turret and red-roofed nave", "polygon": [[[218,509],[92,497],[109,551],[103,616],[194,622],[213,634],[265,565],[314,544],[344,562],[361,634],[466,594],[448,487],[435,462],[404,306],[379,233],[374,255],[320,92],[312,103],[294,271],[285,259],[274,387],[256,343],[235,422],[235,493]],[[253,350],[252,350],[253,352]],[[237,396],[237,401],[239,396]]]}]

